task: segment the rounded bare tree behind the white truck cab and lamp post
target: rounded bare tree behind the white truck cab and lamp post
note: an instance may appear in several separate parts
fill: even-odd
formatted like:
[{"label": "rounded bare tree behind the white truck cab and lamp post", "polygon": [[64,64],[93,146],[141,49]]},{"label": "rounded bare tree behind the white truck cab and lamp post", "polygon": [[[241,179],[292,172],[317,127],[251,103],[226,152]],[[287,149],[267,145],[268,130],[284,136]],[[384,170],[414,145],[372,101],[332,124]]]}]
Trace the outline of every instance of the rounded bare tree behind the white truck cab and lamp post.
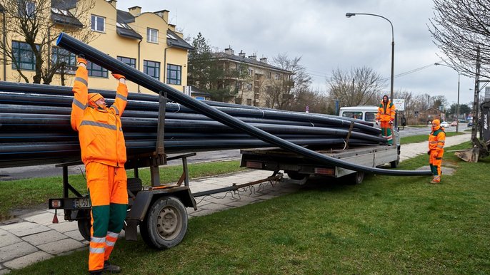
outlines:
[{"label": "rounded bare tree behind the white truck cab and lamp post", "polygon": [[329,98],[339,100],[340,106],[377,105],[381,100],[381,89],[386,81],[372,68],[351,68],[345,72],[337,68],[326,80]]}]

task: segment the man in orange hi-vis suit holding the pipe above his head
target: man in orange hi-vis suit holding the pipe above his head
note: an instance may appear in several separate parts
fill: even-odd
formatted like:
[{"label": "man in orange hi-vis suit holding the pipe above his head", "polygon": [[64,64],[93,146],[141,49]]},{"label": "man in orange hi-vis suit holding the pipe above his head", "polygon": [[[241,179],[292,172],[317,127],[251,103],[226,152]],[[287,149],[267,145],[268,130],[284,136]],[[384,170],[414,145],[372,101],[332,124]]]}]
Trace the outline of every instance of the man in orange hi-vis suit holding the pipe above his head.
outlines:
[{"label": "man in orange hi-vis suit holding the pipe above his head", "polygon": [[121,268],[108,260],[128,206],[126,145],[121,128],[128,88],[124,76],[113,73],[119,85],[114,104],[107,108],[102,95],[89,93],[87,61],[79,57],[77,63],[71,127],[79,132],[81,160],[92,204],[89,272],[119,273]]}]

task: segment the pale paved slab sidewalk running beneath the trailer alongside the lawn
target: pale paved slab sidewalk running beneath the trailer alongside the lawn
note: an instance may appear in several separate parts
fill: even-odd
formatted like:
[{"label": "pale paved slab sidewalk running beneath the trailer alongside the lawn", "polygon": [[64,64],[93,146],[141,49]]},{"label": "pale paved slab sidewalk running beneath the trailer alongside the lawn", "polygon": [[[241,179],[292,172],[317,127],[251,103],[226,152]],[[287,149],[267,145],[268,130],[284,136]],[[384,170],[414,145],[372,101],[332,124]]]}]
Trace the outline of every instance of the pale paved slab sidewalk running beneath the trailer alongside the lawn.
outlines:
[{"label": "pale paved slab sidewalk running beneath the trailer alongside the lawn", "polygon": [[[446,147],[470,140],[471,135],[456,135],[446,138]],[[400,160],[406,160],[427,152],[427,142],[412,143],[401,146]],[[269,171],[247,170],[230,175],[204,177],[191,180],[192,192],[229,187],[232,184],[243,184],[264,179],[271,175]],[[265,182],[246,187],[241,192],[224,192],[212,196],[197,197],[198,209],[187,209],[189,217],[202,216],[213,212],[245,204],[261,202],[272,197],[289,194],[299,190],[299,185],[283,182]],[[0,274],[7,274],[11,269],[43,261],[53,256],[68,254],[79,249],[86,250],[87,244],[81,237],[76,222],[64,221],[63,212],[58,213],[58,224],[53,224],[54,210],[41,210],[0,223]],[[123,234],[121,234],[123,237]]]}]

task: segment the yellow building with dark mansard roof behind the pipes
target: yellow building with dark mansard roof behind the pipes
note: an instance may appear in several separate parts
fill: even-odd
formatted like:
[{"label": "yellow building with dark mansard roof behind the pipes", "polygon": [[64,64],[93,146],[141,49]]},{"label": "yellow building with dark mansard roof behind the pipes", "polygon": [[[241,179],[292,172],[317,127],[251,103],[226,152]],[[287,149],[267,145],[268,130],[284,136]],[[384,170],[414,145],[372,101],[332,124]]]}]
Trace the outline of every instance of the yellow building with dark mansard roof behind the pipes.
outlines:
[{"label": "yellow building with dark mansard roof behind the pipes", "polygon": [[[42,0],[21,1],[26,3],[22,12],[28,15],[38,11],[36,5],[50,5],[47,10],[50,11],[49,19],[54,28],[44,30],[48,36],[54,38],[61,30],[66,29],[74,34],[78,33],[99,51],[184,92],[187,85],[187,53],[192,47],[184,41],[183,34],[176,31],[176,26],[169,24],[169,11],[141,12],[139,6],[131,7],[129,11],[121,11],[117,9],[117,1],[114,0],[44,0],[46,3]],[[83,13],[80,13],[82,5],[86,7],[83,8]],[[8,13],[5,12],[8,8],[1,9],[8,21]],[[42,14],[41,9],[39,14]],[[3,36],[6,44],[10,43],[14,57],[9,59],[8,54],[4,54],[1,58],[1,80],[26,82],[17,71],[17,68],[20,68],[22,74],[28,76],[29,82],[32,83],[36,57],[30,47],[26,47],[25,38],[23,41],[21,37],[9,35],[6,31]],[[60,60],[67,63],[67,66],[62,68],[63,71],[61,68],[56,71],[50,84],[73,85],[76,56],[57,48],[54,43],[50,47],[49,51],[44,51],[44,54],[49,55],[49,59],[46,58],[49,63]],[[114,90],[116,82],[111,72],[90,62],[87,68],[89,88]],[[63,81],[61,78],[64,78]],[[149,90],[134,83],[129,82],[128,86],[131,92],[149,93]]]}]

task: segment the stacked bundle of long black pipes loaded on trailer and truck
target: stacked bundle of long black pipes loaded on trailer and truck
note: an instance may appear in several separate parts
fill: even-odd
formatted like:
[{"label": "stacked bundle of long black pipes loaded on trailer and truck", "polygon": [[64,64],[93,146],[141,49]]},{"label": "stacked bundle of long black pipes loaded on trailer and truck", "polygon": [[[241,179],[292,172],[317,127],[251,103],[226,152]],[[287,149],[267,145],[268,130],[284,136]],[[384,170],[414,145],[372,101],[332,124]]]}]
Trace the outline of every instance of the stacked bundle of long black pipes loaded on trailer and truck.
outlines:
[{"label": "stacked bundle of long black pipes loaded on trailer and truck", "polygon": [[[109,105],[115,92],[101,93]],[[0,82],[0,167],[79,160],[77,133],[71,130],[71,87]],[[130,93],[122,116],[128,155],[153,152],[158,95]],[[351,120],[289,113],[229,103],[207,102],[241,121],[298,145],[344,146]],[[167,153],[266,147],[269,143],[241,133],[177,103],[166,104],[164,145]],[[379,129],[356,120],[349,145],[382,144]]]}]

